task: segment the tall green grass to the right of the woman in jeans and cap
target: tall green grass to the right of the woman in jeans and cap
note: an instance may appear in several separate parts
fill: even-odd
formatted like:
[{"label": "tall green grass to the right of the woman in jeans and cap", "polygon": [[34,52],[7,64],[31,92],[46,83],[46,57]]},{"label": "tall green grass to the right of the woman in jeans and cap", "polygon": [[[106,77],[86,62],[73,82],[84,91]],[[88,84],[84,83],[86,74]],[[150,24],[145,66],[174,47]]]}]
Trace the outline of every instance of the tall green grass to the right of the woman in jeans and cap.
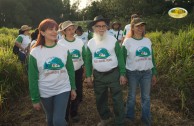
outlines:
[{"label": "tall green grass to the right of the woman in jeans and cap", "polygon": [[[151,38],[159,83],[179,92],[182,110],[190,110],[194,102],[194,29],[172,32],[152,32]],[[174,92],[169,92],[174,93]]]}]

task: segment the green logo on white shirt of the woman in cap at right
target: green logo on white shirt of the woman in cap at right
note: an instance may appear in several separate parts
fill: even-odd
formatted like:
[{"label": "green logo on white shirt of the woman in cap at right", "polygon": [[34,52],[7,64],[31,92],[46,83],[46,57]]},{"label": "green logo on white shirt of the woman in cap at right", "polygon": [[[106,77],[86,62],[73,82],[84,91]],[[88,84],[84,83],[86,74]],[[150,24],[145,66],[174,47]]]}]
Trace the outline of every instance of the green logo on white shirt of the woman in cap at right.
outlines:
[{"label": "green logo on white shirt of the woman in cap at right", "polygon": [[139,47],[136,50],[136,56],[139,56],[139,57],[148,57],[150,55],[151,55],[150,50],[147,47]]}]

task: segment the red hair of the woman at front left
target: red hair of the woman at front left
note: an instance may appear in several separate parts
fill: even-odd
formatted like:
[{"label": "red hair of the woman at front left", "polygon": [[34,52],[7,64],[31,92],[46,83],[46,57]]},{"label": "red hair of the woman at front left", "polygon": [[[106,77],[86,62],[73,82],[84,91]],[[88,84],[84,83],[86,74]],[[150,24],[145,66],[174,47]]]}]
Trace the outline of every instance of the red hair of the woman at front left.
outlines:
[{"label": "red hair of the woman at front left", "polygon": [[[44,19],[43,21],[40,22],[38,26],[39,34],[37,38],[37,42],[34,44],[34,47],[37,47],[39,45],[43,46],[45,45],[45,38],[44,36],[40,33],[40,31],[46,31],[49,28],[57,28],[58,29],[58,24],[55,20],[53,19]],[[57,42],[57,41],[56,41]]]}]

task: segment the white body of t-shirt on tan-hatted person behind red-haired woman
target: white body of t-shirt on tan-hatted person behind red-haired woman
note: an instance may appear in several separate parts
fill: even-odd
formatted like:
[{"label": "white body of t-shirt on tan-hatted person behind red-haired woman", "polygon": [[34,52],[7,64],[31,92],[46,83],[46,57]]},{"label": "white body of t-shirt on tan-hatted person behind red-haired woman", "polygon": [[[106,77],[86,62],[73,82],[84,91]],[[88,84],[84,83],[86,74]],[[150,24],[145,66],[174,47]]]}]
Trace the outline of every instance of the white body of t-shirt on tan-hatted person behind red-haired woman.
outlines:
[{"label": "white body of t-shirt on tan-hatted person behind red-haired woman", "polygon": [[74,70],[78,70],[84,64],[83,57],[82,57],[82,48],[84,46],[83,42],[79,38],[75,38],[74,41],[67,41],[66,39],[62,38],[58,41],[58,44],[64,46],[69,49],[69,52],[72,56]]}]

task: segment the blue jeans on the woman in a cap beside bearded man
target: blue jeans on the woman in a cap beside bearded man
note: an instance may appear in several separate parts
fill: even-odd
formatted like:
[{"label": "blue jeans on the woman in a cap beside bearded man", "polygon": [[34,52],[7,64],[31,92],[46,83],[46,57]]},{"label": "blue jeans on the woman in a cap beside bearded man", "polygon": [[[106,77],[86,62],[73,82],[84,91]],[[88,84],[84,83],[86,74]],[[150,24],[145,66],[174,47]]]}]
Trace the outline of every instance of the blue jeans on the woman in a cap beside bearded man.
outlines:
[{"label": "blue jeans on the woman in a cap beside bearded man", "polygon": [[141,119],[146,126],[151,125],[151,113],[150,113],[150,88],[152,71],[130,71],[127,70],[128,78],[128,98],[126,105],[126,118],[131,120],[135,119],[135,101],[136,101],[136,89],[140,86],[141,89],[141,107],[142,115]]}]

